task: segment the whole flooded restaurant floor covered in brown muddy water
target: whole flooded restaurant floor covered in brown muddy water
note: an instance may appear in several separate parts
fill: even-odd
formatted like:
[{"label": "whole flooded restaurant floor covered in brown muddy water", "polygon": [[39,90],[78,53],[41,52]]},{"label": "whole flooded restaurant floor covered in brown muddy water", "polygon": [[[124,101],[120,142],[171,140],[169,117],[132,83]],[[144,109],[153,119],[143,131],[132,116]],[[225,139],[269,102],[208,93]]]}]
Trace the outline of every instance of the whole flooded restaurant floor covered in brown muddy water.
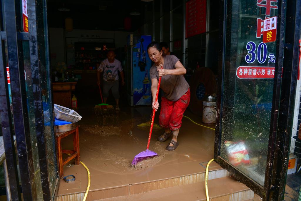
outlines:
[{"label": "whole flooded restaurant floor covered in brown muddy water", "polygon": [[[93,107],[82,108],[78,112],[83,117],[79,122],[80,160],[90,170],[90,191],[204,172],[206,162],[213,158],[215,131],[183,118],[178,135],[179,146],[175,151],[165,149],[171,137],[163,143],[157,141],[163,129],[155,129],[150,150],[155,151],[158,157],[132,167],[130,164],[135,155],[146,150],[149,128],[137,125],[149,121],[151,107],[121,108],[114,114],[113,125],[110,124],[110,118],[106,118],[105,126],[98,125],[99,119],[95,116]],[[157,115],[155,123],[158,123]],[[192,115],[190,111],[186,111],[184,115],[202,124],[201,118]],[[63,149],[71,149],[72,145],[72,137],[62,140]],[[68,164],[64,166],[64,176],[73,174],[76,181],[66,183],[62,179],[58,196],[86,190],[88,177],[85,168],[74,165],[73,161],[70,164],[70,167]],[[209,169],[221,167],[213,162]]]}]

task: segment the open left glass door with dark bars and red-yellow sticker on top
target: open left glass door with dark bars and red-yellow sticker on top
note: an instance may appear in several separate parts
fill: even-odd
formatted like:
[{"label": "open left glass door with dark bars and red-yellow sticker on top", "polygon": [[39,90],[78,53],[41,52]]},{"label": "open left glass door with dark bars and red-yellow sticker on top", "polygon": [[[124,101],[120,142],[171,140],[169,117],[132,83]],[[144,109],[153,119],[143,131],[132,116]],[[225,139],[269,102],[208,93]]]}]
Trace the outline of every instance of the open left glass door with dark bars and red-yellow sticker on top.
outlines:
[{"label": "open left glass door with dark bars and red-yellow sticker on top", "polygon": [[46,0],[0,0],[0,10],[0,143],[7,197],[54,200],[58,175]]}]

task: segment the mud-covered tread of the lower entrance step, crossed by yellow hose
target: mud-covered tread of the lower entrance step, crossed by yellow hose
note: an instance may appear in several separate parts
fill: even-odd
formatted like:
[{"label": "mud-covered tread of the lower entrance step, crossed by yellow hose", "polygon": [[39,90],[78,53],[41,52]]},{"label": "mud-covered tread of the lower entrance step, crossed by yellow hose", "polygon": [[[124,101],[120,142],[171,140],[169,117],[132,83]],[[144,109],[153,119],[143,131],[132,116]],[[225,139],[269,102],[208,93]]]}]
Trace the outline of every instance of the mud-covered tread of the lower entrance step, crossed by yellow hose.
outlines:
[{"label": "mud-covered tread of the lower entrance step, crossed by yellow hose", "polygon": [[[252,200],[254,192],[247,186],[235,180],[233,177],[222,177],[209,180],[208,182],[209,199],[211,201],[241,201]],[[99,199],[101,201],[167,201],[167,200],[206,200],[205,182],[185,184],[175,187],[151,190],[144,193],[130,194],[128,196],[119,196],[114,198]]]}]

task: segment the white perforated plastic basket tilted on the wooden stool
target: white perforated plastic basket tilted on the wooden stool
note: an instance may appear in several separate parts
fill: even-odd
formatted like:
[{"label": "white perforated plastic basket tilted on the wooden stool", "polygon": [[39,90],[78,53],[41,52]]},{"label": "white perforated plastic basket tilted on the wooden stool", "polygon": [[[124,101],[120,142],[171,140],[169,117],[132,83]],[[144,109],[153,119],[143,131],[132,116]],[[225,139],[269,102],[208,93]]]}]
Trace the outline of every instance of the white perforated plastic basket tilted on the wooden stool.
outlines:
[{"label": "white perforated plastic basket tilted on the wooden stool", "polygon": [[82,118],[82,116],[80,116],[76,111],[57,104],[54,104],[54,115],[57,119],[73,123],[81,120]]}]

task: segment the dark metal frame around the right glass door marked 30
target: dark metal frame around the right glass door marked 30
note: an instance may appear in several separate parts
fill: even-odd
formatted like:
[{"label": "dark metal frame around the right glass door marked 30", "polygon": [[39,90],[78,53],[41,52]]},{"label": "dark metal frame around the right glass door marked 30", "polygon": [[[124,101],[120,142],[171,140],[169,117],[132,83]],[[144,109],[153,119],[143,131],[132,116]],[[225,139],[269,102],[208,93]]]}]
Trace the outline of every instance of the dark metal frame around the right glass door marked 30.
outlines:
[{"label": "dark metal frame around the right glass door marked 30", "polygon": [[[217,99],[217,121],[215,133],[214,159],[223,168],[228,170],[237,180],[252,189],[263,200],[282,200],[284,197],[287,174],[290,138],[293,124],[293,110],[296,93],[296,77],[298,73],[298,53],[300,39],[300,10],[299,0],[279,0],[277,16],[277,42],[275,78],[272,100],[272,114],[268,141],[267,165],[265,169],[265,183],[262,187],[240,170],[234,168],[220,156],[224,72],[226,61],[227,24],[231,18],[231,0],[219,0],[220,24],[219,42],[223,44],[219,49],[219,88]],[[280,40],[284,38],[285,40]],[[284,57],[283,57],[284,56]],[[283,68],[282,68],[283,67]],[[279,112],[283,111],[283,112]]]}]

